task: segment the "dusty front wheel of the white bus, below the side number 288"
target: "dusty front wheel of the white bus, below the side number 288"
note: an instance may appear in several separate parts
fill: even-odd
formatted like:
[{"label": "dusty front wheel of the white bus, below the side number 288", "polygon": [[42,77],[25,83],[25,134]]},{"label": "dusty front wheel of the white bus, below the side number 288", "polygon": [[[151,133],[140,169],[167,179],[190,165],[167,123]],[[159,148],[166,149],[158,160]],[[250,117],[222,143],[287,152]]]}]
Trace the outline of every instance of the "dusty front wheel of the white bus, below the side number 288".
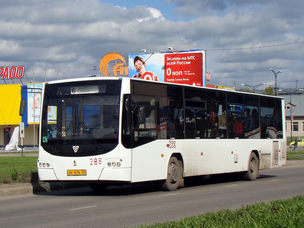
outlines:
[{"label": "dusty front wheel of the white bus, below the side number 288", "polygon": [[163,191],[175,191],[181,179],[181,167],[176,157],[171,157],[168,163],[167,179],[158,181]]}]

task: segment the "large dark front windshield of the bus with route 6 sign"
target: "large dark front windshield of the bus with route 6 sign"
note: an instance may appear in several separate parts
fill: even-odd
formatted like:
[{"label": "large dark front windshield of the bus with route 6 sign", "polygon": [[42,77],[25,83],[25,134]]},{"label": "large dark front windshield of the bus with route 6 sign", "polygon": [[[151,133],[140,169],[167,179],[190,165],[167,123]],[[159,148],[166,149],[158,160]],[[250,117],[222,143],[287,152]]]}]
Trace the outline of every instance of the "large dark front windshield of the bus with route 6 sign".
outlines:
[{"label": "large dark front windshield of the bus with route 6 sign", "polygon": [[46,84],[41,146],[57,156],[105,154],[118,144],[121,80]]}]

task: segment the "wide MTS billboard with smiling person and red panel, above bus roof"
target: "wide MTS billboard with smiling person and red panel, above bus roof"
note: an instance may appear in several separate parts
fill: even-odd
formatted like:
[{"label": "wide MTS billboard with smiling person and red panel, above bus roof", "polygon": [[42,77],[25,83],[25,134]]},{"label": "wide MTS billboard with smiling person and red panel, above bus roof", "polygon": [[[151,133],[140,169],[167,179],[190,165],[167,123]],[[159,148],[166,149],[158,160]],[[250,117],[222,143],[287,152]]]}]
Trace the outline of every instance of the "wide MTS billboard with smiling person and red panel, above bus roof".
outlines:
[{"label": "wide MTS billboard with smiling person and red panel, above bus roof", "polygon": [[206,86],[204,61],[203,50],[129,54],[129,77]]}]

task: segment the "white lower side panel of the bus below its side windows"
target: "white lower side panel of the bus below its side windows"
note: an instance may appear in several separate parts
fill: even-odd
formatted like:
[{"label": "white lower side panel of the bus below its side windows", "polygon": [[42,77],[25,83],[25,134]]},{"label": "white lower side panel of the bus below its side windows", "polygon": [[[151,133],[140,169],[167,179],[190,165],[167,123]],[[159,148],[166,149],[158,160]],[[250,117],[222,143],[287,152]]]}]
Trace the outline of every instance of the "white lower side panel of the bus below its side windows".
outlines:
[{"label": "white lower side panel of the bus below its side windows", "polygon": [[[261,154],[270,154],[268,167],[278,168],[285,160],[280,159],[282,155],[276,154],[273,145],[281,141],[284,143],[270,139],[156,140],[132,150],[131,181],[167,178],[168,160],[177,151],[183,157],[184,177],[247,171],[253,150],[258,152],[259,159]],[[172,144],[174,148],[169,148]]]}]

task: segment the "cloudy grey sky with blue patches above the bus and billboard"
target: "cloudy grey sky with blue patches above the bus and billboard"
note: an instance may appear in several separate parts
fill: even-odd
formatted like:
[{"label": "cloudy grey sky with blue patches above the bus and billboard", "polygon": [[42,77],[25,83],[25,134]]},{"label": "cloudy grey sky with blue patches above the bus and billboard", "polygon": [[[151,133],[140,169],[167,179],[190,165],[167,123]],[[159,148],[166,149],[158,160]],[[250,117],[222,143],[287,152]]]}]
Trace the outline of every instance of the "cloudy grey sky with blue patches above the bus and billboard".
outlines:
[{"label": "cloudy grey sky with blue patches above the bus and billboard", "polygon": [[172,46],[207,50],[211,84],[274,86],[272,68],[283,71],[280,88],[295,88],[296,79],[302,88],[303,9],[302,0],[1,0],[0,67],[25,66],[23,83],[34,73],[45,81],[45,68],[47,81],[57,71],[79,78],[109,52],[127,60]]}]

